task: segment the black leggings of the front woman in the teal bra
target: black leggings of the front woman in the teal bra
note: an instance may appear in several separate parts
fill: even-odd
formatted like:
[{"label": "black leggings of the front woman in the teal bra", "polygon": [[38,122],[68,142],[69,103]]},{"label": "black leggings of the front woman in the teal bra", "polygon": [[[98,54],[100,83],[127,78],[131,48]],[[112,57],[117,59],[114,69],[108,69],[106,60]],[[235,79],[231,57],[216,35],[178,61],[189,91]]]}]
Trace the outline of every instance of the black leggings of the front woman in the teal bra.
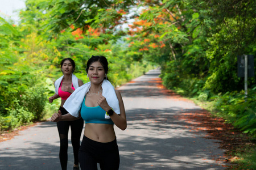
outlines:
[{"label": "black leggings of the front woman in the teal bra", "polygon": [[120,158],[116,138],[112,142],[101,143],[84,135],[79,149],[81,170],[96,170],[97,163],[100,163],[102,170],[119,169]]}]

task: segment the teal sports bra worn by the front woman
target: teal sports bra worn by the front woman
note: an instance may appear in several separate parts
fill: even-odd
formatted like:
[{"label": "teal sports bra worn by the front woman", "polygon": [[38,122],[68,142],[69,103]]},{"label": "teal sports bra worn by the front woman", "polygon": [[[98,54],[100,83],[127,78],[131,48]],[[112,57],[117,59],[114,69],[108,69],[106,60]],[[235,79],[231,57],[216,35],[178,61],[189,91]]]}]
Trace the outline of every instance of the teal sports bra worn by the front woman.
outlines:
[{"label": "teal sports bra worn by the front woman", "polygon": [[[86,96],[85,96],[86,97]],[[110,124],[114,125],[114,122],[109,119],[105,119],[106,111],[99,105],[97,107],[86,107],[85,97],[81,106],[81,117],[85,120],[85,124]]]}]

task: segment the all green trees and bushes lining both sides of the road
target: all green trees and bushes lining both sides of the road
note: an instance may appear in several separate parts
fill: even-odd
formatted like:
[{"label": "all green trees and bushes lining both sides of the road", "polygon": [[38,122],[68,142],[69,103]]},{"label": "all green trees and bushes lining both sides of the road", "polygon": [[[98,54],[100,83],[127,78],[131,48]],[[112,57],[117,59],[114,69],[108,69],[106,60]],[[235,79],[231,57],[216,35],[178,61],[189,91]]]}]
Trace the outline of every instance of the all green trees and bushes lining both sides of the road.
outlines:
[{"label": "all green trees and bushes lining both sides of the road", "polygon": [[164,86],[213,100],[227,121],[254,134],[256,80],[249,78],[243,101],[237,55],[256,54],[255,10],[252,0],[27,0],[19,25],[0,18],[1,127],[49,117],[60,103],[47,97],[61,59],[73,58],[86,83],[86,62],[98,55],[108,58],[116,86],[160,65]]}]

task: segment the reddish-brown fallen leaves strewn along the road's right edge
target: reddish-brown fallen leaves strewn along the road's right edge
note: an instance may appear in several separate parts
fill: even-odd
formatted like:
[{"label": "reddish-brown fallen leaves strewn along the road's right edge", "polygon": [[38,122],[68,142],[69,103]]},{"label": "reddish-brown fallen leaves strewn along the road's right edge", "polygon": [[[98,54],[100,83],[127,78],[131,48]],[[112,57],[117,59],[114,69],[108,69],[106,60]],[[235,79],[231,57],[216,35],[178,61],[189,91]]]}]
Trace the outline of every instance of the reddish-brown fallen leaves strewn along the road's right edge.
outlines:
[{"label": "reddish-brown fallen leaves strewn along the road's right edge", "polygon": [[[193,103],[193,101],[184,99],[180,95],[175,94],[174,91],[167,90],[163,86],[162,80],[160,78],[151,79],[151,81],[156,83],[156,86],[160,88],[164,94],[170,95],[172,99]],[[232,151],[236,151],[238,148],[243,148],[245,145],[255,145],[255,143],[250,141],[249,137],[247,137],[238,129],[235,129],[233,125],[226,124],[223,118],[213,117],[213,115],[205,109],[199,109],[193,112],[182,111],[182,113],[176,115],[176,118],[187,122],[188,126],[185,128],[191,129],[193,131],[206,131],[207,135],[205,135],[205,138],[217,139],[220,141],[220,148],[224,149],[226,152],[219,158],[216,156],[214,160],[234,162],[234,160],[242,158],[232,156]],[[227,165],[222,166],[228,167]]]}]

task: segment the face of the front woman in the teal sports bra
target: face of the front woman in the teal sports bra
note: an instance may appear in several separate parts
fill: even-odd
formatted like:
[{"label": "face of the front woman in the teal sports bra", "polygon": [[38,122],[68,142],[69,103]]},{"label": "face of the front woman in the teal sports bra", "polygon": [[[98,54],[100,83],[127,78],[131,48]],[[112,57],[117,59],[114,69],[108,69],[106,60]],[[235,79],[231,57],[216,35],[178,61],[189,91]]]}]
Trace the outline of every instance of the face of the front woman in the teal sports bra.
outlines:
[{"label": "face of the front woman in the teal sports bra", "polygon": [[88,69],[88,78],[91,83],[102,83],[105,77],[105,70],[99,61],[93,62]]}]

